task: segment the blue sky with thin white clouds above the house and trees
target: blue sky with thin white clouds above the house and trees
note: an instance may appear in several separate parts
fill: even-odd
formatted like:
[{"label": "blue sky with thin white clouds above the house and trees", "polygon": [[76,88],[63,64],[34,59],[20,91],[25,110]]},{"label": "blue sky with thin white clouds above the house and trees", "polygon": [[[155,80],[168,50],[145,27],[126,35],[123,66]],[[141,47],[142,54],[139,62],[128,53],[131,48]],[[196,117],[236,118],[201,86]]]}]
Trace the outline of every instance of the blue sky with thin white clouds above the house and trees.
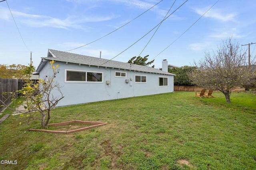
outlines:
[{"label": "blue sky with thin white clouds above the house and trees", "polygon": [[[28,65],[32,51],[33,65],[37,67],[41,57],[46,57],[48,49],[68,51],[93,42],[160,1],[7,0],[18,29],[6,1],[0,2],[0,64]],[[174,1],[162,0],[112,34],[68,52],[99,57],[102,51],[102,58],[112,59],[156,27],[166,14],[169,16],[186,0]],[[113,60],[127,62],[133,56],[149,55],[148,61],[155,59],[155,68],[162,67],[163,59],[167,59],[168,64],[184,66],[199,61],[205,51],[216,50],[223,40],[231,36],[240,45],[255,43],[255,0],[217,1],[188,0],[164,20],[157,31],[155,28]],[[150,38],[152,40],[149,42]],[[256,44],[250,47],[251,55],[256,55]],[[248,49],[248,45],[241,48]]]}]

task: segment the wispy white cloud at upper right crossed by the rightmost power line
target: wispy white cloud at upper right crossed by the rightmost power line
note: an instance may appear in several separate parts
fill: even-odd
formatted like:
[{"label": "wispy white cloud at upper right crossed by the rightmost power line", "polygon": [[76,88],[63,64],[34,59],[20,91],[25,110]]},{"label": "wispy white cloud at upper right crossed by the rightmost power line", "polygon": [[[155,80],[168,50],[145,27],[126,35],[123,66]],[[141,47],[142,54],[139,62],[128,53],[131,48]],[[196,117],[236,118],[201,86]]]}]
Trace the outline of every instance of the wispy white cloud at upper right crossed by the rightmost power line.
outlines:
[{"label": "wispy white cloud at upper right crossed by the rightmost power line", "polygon": [[[197,8],[197,9],[194,9],[194,11],[199,15],[203,15],[209,8],[210,7],[202,8],[202,9]],[[235,16],[236,16],[236,14],[234,14],[234,13],[226,13],[220,9],[214,9],[214,8],[210,9],[204,15],[204,17],[214,18],[214,19],[220,20],[222,22],[234,21]]]}]

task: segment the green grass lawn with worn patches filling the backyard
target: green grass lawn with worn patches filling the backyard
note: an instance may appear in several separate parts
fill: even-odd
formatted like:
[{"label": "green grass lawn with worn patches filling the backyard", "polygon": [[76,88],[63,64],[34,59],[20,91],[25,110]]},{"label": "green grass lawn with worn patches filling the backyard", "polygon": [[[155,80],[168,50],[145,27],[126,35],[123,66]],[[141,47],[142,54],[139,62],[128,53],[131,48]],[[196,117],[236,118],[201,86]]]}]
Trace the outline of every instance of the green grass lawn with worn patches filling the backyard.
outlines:
[{"label": "green grass lawn with worn patches filling the backyard", "polygon": [[174,92],[54,109],[50,123],[108,123],[72,134],[31,132],[39,122],[18,126],[10,116],[0,124],[0,160],[17,164],[0,169],[256,169],[256,95],[233,92],[231,104],[213,95]]}]

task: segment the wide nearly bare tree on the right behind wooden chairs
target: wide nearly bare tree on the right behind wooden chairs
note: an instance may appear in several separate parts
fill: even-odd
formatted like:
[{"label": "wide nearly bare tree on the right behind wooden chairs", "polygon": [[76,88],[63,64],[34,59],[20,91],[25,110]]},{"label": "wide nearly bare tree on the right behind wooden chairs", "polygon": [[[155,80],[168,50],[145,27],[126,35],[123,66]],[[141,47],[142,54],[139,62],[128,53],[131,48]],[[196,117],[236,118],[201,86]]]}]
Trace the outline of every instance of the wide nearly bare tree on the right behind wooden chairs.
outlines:
[{"label": "wide nearly bare tree on the right behind wooden chairs", "polygon": [[255,77],[255,59],[251,65],[247,65],[247,59],[246,51],[229,38],[218,47],[216,53],[205,53],[203,59],[195,62],[198,69],[188,75],[200,87],[221,91],[226,102],[230,103],[232,91],[238,86],[251,83]]}]

